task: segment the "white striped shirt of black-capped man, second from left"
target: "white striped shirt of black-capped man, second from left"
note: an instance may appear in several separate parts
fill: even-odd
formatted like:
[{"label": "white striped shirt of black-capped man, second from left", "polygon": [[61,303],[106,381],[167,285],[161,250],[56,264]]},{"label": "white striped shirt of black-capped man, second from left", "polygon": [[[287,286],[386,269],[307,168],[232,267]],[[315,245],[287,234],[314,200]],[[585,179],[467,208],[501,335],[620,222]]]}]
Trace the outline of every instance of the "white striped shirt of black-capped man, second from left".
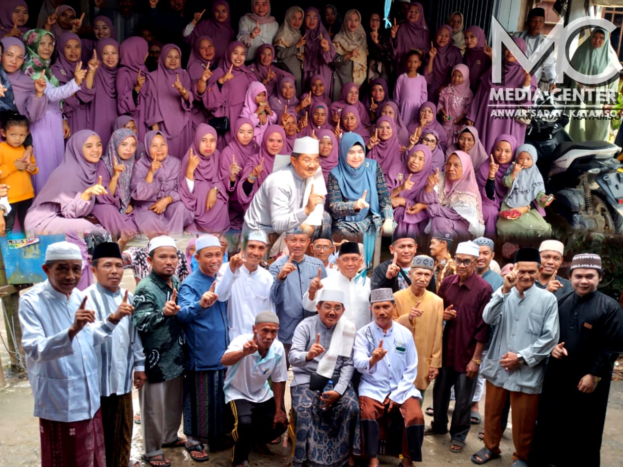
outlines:
[{"label": "white striped shirt of black-capped man, second from left", "polygon": [[[125,296],[125,289],[120,288],[113,293],[96,283],[86,288],[83,294],[87,296],[87,309],[95,311],[95,319],[103,322],[117,310]],[[128,294],[128,301],[132,303],[131,294]],[[145,371],[145,353],[131,317],[119,321],[112,339],[104,342],[101,351],[97,352],[97,362],[102,397],[132,391],[133,370]]]}]

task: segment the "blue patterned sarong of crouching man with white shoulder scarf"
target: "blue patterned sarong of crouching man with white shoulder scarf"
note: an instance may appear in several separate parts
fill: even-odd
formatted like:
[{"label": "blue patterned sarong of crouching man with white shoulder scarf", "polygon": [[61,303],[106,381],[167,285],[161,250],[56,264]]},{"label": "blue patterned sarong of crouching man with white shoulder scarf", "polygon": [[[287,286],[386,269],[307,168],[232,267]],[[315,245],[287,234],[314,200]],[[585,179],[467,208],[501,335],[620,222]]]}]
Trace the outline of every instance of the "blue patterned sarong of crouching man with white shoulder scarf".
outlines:
[{"label": "blue patterned sarong of crouching man with white shoulder scarf", "polygon": [[327,410],[320,409],[318,392],[301,384],[292,388],[296,441],[294,467],[341,467],[350,451],[361,454],[359,403],[349,386]]}]

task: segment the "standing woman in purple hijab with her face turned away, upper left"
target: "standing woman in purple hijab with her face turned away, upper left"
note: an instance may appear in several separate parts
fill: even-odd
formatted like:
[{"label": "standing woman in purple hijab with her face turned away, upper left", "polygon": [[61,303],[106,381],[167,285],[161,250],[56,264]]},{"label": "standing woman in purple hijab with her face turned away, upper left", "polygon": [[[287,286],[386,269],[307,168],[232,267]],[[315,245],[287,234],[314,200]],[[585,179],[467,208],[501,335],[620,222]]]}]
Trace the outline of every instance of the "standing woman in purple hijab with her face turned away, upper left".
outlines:
[{"label": "standing woman in purple hijab with her face turned away, upper left", "polygon": [[147,41],[142,37],[128,37],[121,42],[119,61],[121,66],[117,70],[115,85],[117,86],[117,112],[130,115],[136,123],[138,139],[145,138],[147,125],[145,123],[145,102],[141,95],[145,95],[150,83],[145,60],[149,52]]}]

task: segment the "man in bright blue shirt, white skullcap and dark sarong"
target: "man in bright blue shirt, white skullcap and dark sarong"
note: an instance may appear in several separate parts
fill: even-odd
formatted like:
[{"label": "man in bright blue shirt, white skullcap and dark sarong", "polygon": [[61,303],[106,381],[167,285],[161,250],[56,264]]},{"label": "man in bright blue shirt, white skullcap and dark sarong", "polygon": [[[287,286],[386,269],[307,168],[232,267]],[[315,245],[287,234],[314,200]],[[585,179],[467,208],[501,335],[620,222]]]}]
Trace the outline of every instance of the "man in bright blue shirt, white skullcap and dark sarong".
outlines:
[{"label": "man in bright blue shirt, white skullcap and dark sarong", "polygon": [[206,460],[207,443],[215,450],[224,435],[227,309],[214,293],[216,275],[223,262],[219,237],[197,238],[199,267],[179,287],[178,321],[184,324],[189,369],[184,378],[184,435],[186,450],[194,460]]}]

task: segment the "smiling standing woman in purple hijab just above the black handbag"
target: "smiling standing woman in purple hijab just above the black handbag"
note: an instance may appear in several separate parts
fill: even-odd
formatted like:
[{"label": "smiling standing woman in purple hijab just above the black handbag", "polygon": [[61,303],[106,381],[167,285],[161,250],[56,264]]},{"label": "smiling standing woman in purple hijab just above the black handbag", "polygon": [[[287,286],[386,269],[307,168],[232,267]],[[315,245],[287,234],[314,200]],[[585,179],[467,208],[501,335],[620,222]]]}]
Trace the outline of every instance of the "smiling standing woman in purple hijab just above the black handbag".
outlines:
[{"label": "smiling standing woman in purple hijab just above the black handbag", "polygon": [[[207,82],[207,90],[201,95],[203,105],[213,117],[226,116],[229,128],[238,119],[244,106],[247,87],[255,81],[255,75],[245,67],[246,49],[242,42],[227,45],[225,55]],[[231,141],[231,132],[219,141],[219,148]]]}]

